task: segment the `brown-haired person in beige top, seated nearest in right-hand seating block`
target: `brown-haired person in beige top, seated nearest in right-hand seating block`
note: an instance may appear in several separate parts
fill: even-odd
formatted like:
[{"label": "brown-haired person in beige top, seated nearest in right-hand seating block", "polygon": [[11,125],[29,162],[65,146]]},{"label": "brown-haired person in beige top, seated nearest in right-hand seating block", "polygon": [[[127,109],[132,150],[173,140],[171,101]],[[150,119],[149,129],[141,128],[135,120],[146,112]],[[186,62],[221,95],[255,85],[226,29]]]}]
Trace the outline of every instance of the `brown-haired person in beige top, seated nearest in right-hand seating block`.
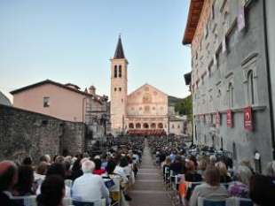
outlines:
[{"label": "brown-haired person in beige top, seated nearest in right-hand seating block", "polygon": [[198,197],[205,197],[213,200],[224,200],[229,197],[225,187],[220,185],[220,173],[215,167],[208,166],[203,174],[203,178],[205,183],[195,187],[193,190],[189,202],[190,206],[198,205]]}]

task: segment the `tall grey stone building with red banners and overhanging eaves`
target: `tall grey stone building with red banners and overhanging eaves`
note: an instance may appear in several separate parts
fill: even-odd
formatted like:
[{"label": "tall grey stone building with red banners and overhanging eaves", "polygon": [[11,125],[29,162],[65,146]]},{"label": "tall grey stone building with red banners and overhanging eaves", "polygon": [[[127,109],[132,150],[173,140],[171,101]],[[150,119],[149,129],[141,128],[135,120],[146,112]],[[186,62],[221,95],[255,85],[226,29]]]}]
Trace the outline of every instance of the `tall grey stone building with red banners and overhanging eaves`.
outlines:
[{"label": "tall grey stone building with red banners and overhanging eaves", "polygon": [[[248,158],[272,159],[263,1],[191,0],[193,141]],[[188,79],[188,75],[185,79]]]}]

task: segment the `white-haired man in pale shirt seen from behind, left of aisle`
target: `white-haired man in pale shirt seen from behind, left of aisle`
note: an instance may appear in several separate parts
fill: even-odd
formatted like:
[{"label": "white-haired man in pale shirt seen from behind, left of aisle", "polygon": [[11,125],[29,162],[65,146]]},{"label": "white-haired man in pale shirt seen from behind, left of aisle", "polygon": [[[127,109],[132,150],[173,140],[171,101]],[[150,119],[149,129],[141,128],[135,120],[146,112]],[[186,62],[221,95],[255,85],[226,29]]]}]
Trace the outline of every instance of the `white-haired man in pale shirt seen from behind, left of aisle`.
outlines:
[{"label": "white-haired man in pale shirt seen from behind, left of aisle", "polygon": [[72,198],[80,202],[97,202],[105,198],[108,202],[109,191],[101,176],[92,174],[95,164],[86,160],[82,164],[83,176],[75,179],[72,187]]}]

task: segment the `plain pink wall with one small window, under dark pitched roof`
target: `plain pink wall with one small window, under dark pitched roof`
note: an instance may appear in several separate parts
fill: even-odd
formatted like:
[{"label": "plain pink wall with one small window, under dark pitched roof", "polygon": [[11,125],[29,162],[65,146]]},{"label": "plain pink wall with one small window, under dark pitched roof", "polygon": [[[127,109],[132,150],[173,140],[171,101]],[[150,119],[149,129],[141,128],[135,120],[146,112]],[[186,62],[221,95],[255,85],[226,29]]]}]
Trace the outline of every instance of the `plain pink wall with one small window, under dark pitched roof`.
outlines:
[{"label": "plain pink wall with one small window, under dark pitched roof", "polygon": [[[43,97],[50,97],[50,107],[43,107]],[[83,122],[83,98],[66,88],[45,84],[13,95],[13,106],[67,121]]]}]

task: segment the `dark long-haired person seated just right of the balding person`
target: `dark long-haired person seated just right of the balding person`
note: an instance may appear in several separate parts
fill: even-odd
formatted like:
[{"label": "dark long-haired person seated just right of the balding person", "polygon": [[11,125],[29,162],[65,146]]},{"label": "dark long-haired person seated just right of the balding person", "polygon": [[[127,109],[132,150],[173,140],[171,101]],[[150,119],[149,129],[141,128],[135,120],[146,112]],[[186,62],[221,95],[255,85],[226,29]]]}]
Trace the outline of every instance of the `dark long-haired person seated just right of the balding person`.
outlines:
[{"label": "dark long-haired person seated just right of the balding person", "polygon": [[18,182],[13,188],[14,196],[35,195],[33,191],[34,171],[30,165],[22,165],[19,167]]}]

